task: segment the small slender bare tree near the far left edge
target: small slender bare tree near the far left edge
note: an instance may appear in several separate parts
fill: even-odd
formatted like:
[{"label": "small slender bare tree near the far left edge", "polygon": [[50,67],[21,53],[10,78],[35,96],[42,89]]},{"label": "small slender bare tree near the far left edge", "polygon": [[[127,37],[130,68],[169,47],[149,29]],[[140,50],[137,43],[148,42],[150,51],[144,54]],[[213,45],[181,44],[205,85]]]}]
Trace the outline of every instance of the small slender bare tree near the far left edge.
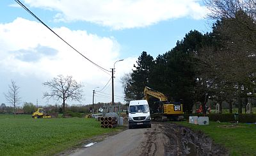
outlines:
[{"label": "small slender bare tree near the far left edge", "polygon": [[16,85],[15,81],[11,81],[12,84],[9,85],[9,90],[7,93],[4,93],[4,97],[7,102],[13,106],[13,114],[15,114],[16,106],[20,104],[21,98],[19,97],[20,87]]}]

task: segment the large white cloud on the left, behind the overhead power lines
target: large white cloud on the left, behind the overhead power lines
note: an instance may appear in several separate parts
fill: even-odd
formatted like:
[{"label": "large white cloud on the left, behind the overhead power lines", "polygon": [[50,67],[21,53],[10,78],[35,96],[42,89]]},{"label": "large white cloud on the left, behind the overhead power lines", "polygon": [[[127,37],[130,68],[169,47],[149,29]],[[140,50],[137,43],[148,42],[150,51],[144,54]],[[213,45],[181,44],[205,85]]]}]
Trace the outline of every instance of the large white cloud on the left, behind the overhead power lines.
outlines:
[{"label": "large white cloud on the left, behind the overhead power lines", "polygon": [[[67,27],[55,27],[53,30],[84,56],[107,70],[113,68],[113,63],[120,59],[120,45],[113,37],[101,37],[82,30],[72,31]],[[36,77],[42,81],[60,74],[72,75],[77,81],[84,82],[85,88],[89,90],[86,93],[89,97],[87,104],[91,102],[88,99],[92,97],[92,89],[95,86],[102,88],[111,77],[110,72],[110,75],[102,72],[42,24],[34,21],[17,18],[11,23],[0,24],[0,47],[1,71],[28,79]],[[131,71],[135,61],[135,58],[128,58],[116,64],[116,77]],[[122,91],[117,79],[115,87]]]}]

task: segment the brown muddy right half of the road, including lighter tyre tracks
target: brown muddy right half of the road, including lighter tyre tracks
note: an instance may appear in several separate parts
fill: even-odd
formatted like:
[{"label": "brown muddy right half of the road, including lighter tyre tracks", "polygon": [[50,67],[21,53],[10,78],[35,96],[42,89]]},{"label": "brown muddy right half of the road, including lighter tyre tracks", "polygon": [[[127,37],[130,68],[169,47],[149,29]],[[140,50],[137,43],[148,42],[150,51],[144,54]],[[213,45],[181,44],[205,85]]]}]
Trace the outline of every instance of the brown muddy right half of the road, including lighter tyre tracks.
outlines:
[{"label": "brown muddy right half of the road, including lighter tyre tracks", "polygon": [[174,123],[154,124],[145,133],[146,144],[141,147],[140,155],[229,155],[202,132]]}]

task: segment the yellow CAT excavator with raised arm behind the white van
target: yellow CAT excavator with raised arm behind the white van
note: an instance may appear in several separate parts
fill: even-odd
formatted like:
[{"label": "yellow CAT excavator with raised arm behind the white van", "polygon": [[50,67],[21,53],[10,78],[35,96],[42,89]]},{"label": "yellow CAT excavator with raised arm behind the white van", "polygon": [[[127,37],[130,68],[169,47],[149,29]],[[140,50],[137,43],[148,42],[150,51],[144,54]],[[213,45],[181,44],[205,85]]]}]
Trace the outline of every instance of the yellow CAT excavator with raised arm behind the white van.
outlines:
[{"label": "yellow CAT excavator with raised arm behind the white van", "polygon": [[[161,92],[152,90],[149,87],[144,89],[145,99],[148,101],[150,97],[155,97],[159,99],[157,112],[152,115],[153,118],[157,121],[163,121],[166,118],[169,120],[179,121],[184,118],[183,107],[180,102],[169,102],[168,98]],[[148,102],[149,103],[149,102]]]}]

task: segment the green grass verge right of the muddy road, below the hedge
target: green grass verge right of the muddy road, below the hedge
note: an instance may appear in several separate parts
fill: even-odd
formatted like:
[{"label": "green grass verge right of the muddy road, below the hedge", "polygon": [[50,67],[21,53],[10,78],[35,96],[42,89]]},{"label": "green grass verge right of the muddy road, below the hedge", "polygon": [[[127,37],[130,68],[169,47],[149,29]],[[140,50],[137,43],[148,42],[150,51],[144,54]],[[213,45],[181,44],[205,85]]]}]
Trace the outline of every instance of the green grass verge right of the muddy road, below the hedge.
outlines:
[{"label": "green grass verge right of the muddy road, below the hedge", "polygon": [[[177,123],[177,122],[175,122]],[[230,155],[256,155],[256,125],[239,123],[216,123],[210,121],[209,125],[194,125],[188,121],[179,124],[191,127],[194,130],[201,130],[211,137],[214,143],[225,146]]]}]

